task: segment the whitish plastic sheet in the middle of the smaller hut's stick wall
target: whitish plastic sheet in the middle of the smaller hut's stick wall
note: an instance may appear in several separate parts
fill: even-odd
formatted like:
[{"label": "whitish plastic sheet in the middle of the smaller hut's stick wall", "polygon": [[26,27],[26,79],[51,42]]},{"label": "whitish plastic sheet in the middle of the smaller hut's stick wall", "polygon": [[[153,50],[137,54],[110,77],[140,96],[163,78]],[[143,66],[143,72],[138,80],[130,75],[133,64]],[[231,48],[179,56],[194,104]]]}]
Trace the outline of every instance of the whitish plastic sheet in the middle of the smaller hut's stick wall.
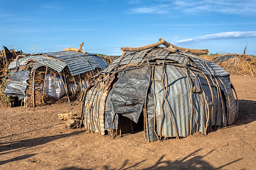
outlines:
[{"label": "whitish plastic sheet in the middle of the smaller hut's stick wall", "polygon": [[56,97],[57,99],[60,99],[60,97],[65,94],[65,88],[63,86],[61,78],[59,76],[56,76],[55,82],[55,76],[50,76],[50,74],[47,74],[46,88],[44,89],[44,92],[46,92],[47,96],[49,97]]}]

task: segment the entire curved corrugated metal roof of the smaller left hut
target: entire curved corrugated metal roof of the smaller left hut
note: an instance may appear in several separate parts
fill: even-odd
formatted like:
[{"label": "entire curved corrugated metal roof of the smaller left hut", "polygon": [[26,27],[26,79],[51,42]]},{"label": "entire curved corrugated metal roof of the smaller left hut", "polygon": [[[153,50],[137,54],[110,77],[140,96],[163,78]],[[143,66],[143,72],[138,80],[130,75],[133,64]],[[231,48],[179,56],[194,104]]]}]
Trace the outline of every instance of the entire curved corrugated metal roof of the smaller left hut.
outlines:
[{"label": "entire curved corrugated metal roof of the smaller left hut", "polygon": [[19,65],[26,65],[26,62],[30,60],[41,63],[58,72],[61,72],[65,66],[68,66],[72,76],[86,73],[96,68],[105,69],[108,66],[108,63],[103,58],[95,54],[67,51],[40,53],[20,58],[11,62],[8,69],[14,69]]}]

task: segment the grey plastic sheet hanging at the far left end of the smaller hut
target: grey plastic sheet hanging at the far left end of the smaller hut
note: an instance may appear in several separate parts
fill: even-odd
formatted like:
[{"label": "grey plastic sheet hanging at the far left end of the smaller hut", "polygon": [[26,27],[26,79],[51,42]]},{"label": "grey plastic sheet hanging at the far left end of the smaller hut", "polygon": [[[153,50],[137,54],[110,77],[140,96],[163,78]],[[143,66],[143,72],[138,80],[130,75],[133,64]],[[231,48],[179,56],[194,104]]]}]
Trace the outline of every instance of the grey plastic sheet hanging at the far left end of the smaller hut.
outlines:
[{"label": "grey plastic sheet hanging at the far left end of the smaller hut", "polygon": [[30,71],[18,71],[14,73],[11,77],[12,82],[7,82],[7,86],[3,93],[7,96],[18,97],[19,100],[22,100],[26,96],[25,91],[27,88],[27,80],[30,79],[29,74]]}]

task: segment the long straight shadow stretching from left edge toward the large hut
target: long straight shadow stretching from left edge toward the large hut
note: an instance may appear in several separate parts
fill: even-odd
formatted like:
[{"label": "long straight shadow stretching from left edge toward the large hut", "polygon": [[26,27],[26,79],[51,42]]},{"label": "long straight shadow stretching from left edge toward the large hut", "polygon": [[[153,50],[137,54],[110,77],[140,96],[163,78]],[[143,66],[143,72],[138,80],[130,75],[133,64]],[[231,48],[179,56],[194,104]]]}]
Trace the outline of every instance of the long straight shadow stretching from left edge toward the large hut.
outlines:
[{"label": "long straight shadow stretching from left edge toward the large hut", "polygon": [[[20,151],[24,150],[26,148],[31,148],[34,146],[39,146],[43,145],[48,142],[55,141],[57,139],[61,138],[66,138],[70,137],[72,135],[77,135],[84,133],[86,130],[79,130],[79,131],[72,131],[72,133],[69,134],[58,134],[58,135],[51,135],[48,137],[40,137],[40,138],[33,138],[33,139],[25,139],[25,140],[19,140],[19,141],[14,141],[14,142],[6,142],[6,143],[1,143],[0,147],[0,155],[2,154],[7,154],[10,152],[15,152],[15,151]],[[9,152],[4,152],[4,151],[9,151]],[[4,153],[1,153],[4,152]]]}]

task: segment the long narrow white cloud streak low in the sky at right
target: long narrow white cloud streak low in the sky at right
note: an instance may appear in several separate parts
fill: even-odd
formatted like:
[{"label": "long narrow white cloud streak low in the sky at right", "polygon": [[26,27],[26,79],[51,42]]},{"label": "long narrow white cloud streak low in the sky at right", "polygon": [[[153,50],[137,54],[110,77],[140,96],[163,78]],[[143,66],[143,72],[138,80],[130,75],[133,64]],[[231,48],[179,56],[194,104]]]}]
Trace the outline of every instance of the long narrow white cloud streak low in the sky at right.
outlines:
[{"label": "long narrow white cloud streak low in the sky at right", "polygon": [[210,40],[246,39],[250,37],[256,37],[256,31],[214,33],[210,35],[194,37],[191,39],[175,41],[175,44],[189,44],[192,42],[203,42]]}]

